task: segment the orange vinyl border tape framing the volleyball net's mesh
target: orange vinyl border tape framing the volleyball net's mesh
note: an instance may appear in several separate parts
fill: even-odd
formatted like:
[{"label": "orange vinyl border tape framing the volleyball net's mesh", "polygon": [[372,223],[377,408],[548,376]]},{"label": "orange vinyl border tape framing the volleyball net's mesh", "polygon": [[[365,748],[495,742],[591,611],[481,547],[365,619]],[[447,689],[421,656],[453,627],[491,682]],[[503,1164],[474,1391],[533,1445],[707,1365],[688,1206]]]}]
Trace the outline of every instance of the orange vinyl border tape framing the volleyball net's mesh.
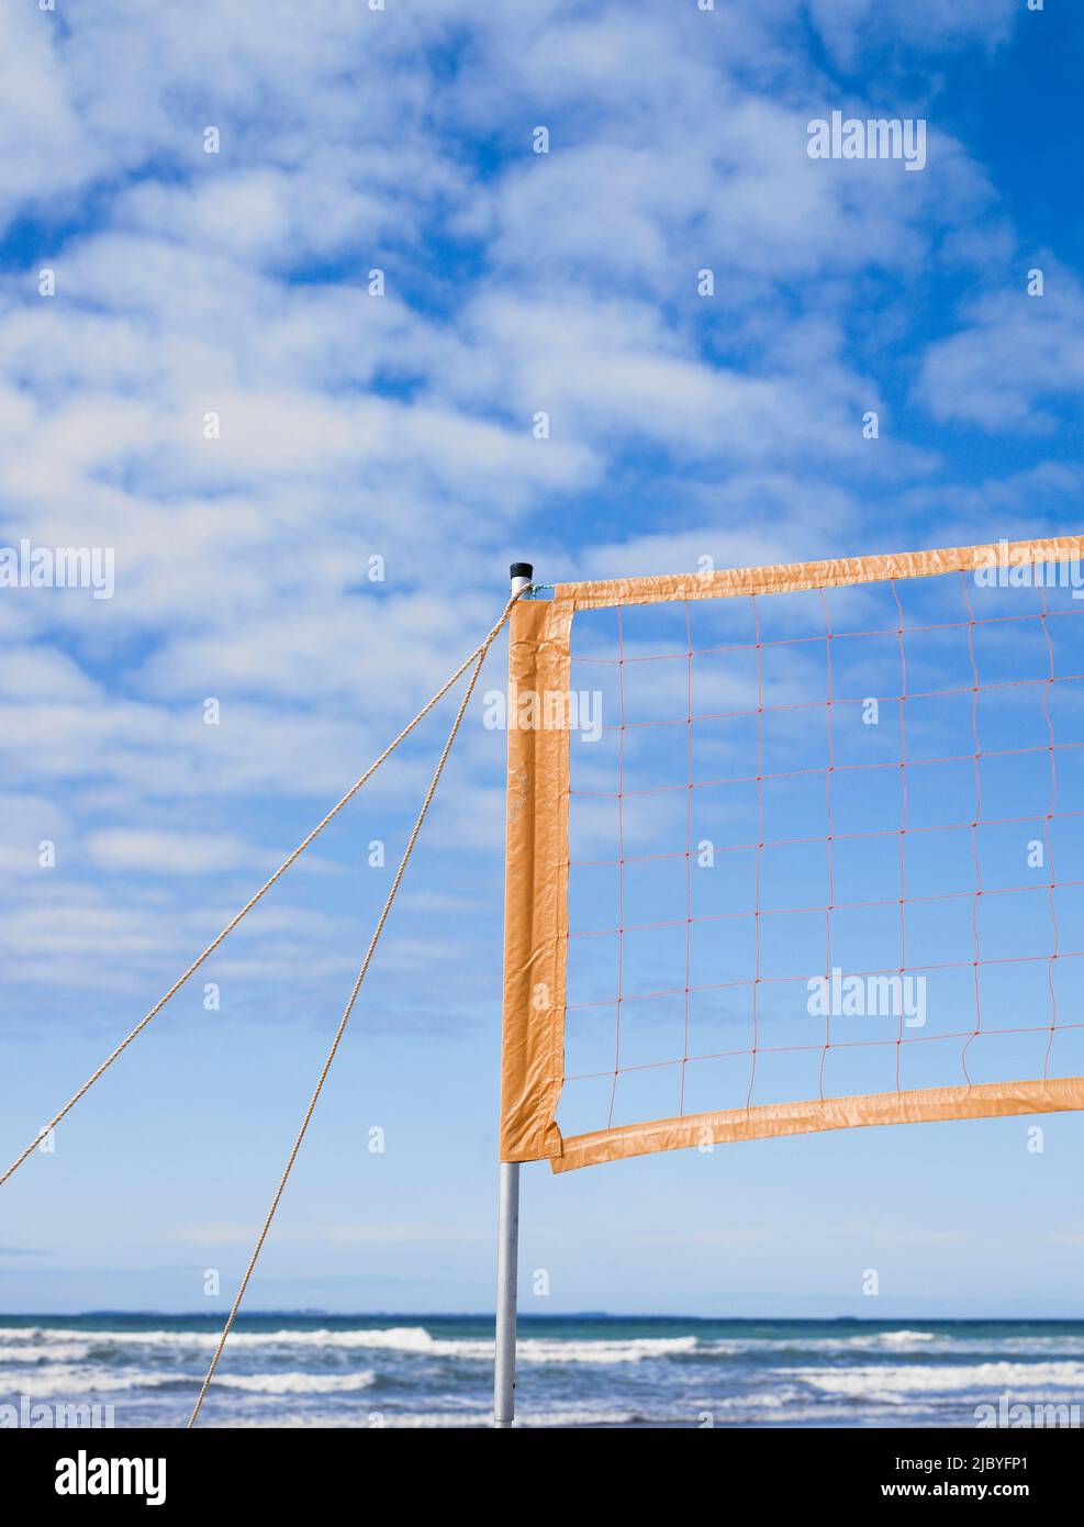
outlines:
[{"label": "orange vinyl border tape framing the volleyball net's mesh", "polygon": [[[711,574],[559,583],[551,600],[521,600],[511,615],[511,693],[566,695],[577,609],[846,588],[889,579],[1084,557],[1084,536],[999,542],[829,562],[736,568]],[[690,1145],[960,1118],[1084,1109],[1084,1077],[858,1093],[652,1119],[562,1138],[568,950],[569,736],[518,728],[508,718],[504,1046],[501,1142],[505,1162],[550,1161],[571,1171]]]}]

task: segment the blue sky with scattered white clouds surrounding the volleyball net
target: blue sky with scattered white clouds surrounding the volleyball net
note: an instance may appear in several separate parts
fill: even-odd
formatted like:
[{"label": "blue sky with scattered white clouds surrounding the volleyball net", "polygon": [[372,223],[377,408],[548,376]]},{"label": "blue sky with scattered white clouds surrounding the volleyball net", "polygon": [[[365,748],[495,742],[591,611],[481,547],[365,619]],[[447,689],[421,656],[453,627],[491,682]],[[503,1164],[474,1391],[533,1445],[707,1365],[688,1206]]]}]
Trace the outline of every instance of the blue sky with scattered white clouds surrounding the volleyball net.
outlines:
[{"label": "blue sky with scattered white clouds surrounding the volleyball net", "polygon": [[[0,591],[9,1156],[470,651],[511,559],[1079,528],[1069,6],[490,9],[0,20],[0,541],[116,554],[110,600]],[[835,108],[927,119],[927,168],[811,160]],[[386,890],[369,844],[394,864],[447,716],[215,956],[221,1009],[186,988],[5,1186],[2,1309],[227,1307]],[[479,702],[253,1309],[492,1307],[502,745]],[[531,1168],[524,1306],[1084,1315],[1082,1125],[1034,1154],[1029,1122]]]}]

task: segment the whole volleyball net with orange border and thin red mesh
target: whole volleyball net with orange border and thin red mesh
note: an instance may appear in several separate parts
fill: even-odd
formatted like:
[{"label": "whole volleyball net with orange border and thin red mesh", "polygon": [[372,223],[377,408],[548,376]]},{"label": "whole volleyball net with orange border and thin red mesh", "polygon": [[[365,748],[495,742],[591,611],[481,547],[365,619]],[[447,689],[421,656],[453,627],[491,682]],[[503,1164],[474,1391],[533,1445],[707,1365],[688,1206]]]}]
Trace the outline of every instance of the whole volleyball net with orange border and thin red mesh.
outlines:
[{"label": "whole volleyball net with orange border and thin red mesh", "polygon": [[502,1161],[1084,1106],[1082,554],[515,608]]}]

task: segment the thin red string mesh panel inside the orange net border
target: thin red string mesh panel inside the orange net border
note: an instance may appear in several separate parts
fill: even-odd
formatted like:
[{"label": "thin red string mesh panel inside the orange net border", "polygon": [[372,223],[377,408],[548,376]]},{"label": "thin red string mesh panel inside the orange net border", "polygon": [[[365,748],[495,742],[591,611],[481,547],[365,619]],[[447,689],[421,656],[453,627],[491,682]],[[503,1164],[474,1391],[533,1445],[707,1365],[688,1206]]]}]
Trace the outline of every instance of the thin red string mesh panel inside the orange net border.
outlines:
[{"label": "thin red string mesh panel inside the orange net border", "polygon": [[1064,571],[577,609],[563,1135],[1084,1072]]}]

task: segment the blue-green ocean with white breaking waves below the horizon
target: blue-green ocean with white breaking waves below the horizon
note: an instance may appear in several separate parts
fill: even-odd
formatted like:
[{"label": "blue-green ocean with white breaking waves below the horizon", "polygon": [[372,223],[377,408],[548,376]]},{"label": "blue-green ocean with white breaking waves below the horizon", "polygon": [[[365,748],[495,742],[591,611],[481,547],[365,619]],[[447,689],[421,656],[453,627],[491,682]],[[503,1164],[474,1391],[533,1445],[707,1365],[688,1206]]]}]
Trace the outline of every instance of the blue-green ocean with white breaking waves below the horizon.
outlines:
[{"label": "blue-green ocean with white breaking waves below the horizon", "polygon": [[[220,1325],[0,1316],[0,1425],[92,1405],[183,1426]],[[1084,1406],[1084,1321],[525,1316],[519,1338],[524,1426],[976,1426],[983,1405],[1079,1425]],[[492,1318],[247,1315],[200,1425],[487,1426],[492,1362]]]}]

